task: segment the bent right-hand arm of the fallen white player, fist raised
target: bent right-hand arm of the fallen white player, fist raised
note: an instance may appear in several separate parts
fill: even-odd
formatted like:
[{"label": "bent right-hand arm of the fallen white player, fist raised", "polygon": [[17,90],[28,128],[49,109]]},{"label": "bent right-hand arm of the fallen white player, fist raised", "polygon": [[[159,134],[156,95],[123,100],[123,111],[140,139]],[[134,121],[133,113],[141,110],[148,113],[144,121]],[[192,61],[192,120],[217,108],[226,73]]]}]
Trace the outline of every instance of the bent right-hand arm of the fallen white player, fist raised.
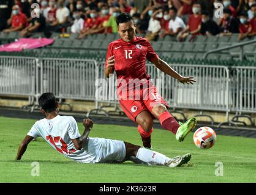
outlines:
[{"label": "bent right-hand arm of the fallen white player, fist raised", "polygon": [[81,150],[85,143],[88,141],[88,135],[93,126],[93,121],[91,119],[83,119],[83,126],[85,126],[85,132],[83,135],[77,139],[72,139],[75,148]]}]

